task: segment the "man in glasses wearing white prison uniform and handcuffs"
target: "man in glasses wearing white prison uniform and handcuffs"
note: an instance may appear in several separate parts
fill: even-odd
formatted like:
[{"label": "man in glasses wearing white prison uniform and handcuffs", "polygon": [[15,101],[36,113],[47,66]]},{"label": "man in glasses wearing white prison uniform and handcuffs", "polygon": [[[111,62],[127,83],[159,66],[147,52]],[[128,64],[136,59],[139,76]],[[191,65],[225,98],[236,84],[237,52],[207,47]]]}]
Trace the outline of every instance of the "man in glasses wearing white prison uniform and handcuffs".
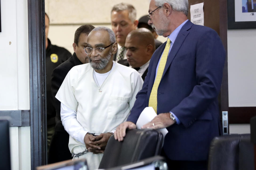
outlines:
[{"label": "man in glasses wearing white prison uniform and handcuffs", "polygon": [[108,139],[130,114],[143,80],[136,70],[113,61],[117,42],[109,28],[94,28],[85,52],[90,63],[74,66],[55,97],[61,102],[70,152],[88,150],[79,158],[86,158],[89,168],[97,169]]}]

